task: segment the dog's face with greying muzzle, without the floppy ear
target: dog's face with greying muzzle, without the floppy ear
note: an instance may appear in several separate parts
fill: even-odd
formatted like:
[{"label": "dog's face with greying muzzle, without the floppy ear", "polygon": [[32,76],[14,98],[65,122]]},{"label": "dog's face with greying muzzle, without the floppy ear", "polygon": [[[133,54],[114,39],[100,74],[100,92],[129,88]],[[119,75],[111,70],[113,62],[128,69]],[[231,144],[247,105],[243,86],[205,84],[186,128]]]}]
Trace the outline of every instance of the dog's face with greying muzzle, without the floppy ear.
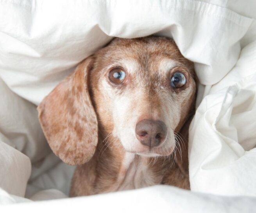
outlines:
[{"label": "dog's face with greying muzzle, without the floppy ear", "polygon": [[127,152],[170,155],[195,98],[193,64],[158,37],[115,39],[94,60],[90,88],[100,129]]}]

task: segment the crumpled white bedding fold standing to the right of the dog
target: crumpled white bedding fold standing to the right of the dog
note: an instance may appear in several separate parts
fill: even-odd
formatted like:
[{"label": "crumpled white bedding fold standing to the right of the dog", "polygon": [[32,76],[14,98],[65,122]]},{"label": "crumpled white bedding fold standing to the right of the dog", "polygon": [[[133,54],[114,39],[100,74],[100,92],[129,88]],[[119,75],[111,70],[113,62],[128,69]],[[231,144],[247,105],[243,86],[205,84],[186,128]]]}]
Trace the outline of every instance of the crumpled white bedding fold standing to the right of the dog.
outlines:
[{"label": "crumpled white bedding fold standing to the right of the dog", "polygon": [[190,125],[195,191],[256,196],[256,41],[215,84]]}]

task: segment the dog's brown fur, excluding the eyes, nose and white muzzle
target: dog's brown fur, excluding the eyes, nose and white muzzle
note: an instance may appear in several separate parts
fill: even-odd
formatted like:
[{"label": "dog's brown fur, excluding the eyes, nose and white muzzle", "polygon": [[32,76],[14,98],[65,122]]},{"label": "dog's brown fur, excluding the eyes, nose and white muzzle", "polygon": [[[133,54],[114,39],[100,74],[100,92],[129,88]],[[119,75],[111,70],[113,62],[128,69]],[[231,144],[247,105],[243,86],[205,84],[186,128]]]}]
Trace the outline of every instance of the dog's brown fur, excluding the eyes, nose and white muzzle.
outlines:
[{"label": "dog's brown fur, excluding the eyes, nose and white muzzle", "polygon": [[[167,74],[159,72],[163,58],[176,61],[179,66],[174,69],[184,69],[187,79],[184,87],[170,88],[169,81],[173,71]],[[133,70],[134,73],[129,74],[127,82],[122,85],[106,83],[110,69],[108,67],[113,67],[113,64],[118,64],[123,59],[136,61],[139,70]],[[93,195],[122,190],[128,178],[134,181],[134,186],[129,187],[137,188],[136,177],[128,175],[132,174],[131,170],[134,171],[133,166],[139,165],[145,165],[145,174],[149,174],[151,178],[148,183],[144,179],[145,183],[139,184],[140,186],[169,184],[189,189],[187,141],[188,127],[195,111],[195,82],[193,63],[184,59],[175,43],[167,38],[116,38],[107,47],[83,61],[38,107],[41,126],[54,153],[64,162],[78,165],[70,195]],[[127,150],[120,138],[111,134],[119,126],[113,112],[113,100],[129,94],[136,95],[138,91],[143,95],[139,99],[131,99],[132,107],[127,109],[124,124],[129,124],[134,113],[139,115],[136,118],[138,121],[151,118],[163,120],[168,109],[172,108],[164,104],[164,97],[168,97],[168,101],[174,103],[174,106],[182,100],[180,108],[174,109],[179,116],[176,116],[178,120],[174,119],[176,123],[172,124],[172,128],[183,135],[181,137],[184,137],[185,143],[181,153],[177,147],[174,151],[156,148],[153,151],[162,156],[154,158],[136,154],[133,162],[125,166],[123,162]],[[113,97],[109,94],[113,94]],[[140,149],[144,150],[145,147],[133,147],[128,152],[137,153]],[[170,154],[166,154],[169,152]]]}]

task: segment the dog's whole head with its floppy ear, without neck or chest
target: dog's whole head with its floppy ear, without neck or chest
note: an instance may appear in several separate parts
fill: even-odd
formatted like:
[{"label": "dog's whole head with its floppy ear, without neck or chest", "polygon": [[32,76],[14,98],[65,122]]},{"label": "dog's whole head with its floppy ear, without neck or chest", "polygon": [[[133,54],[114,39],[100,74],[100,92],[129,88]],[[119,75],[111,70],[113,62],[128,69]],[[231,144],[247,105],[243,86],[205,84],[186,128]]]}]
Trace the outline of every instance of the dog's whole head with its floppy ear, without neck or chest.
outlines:
[{"label": "dog's whole head with its floppy ear, without neck or chest", "polygon": [[168,156],[194,110],[193,63],[174,41],[116,38],[85,59],[38,107],[54,153],[72,165],[87,162],[98,131],[127,152]]}]

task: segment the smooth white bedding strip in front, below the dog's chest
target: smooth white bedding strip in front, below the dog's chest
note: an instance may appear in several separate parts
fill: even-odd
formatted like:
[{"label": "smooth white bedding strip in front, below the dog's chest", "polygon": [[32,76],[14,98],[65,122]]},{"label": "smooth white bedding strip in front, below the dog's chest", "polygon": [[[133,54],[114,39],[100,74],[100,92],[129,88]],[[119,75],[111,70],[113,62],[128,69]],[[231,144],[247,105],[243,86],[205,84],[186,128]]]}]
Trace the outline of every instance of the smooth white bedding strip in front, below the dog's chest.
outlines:
[{"label": "smooth white bedding strip in front, below the dog's chest", "polygon": [[[107,193],[87,197],[22,202],[0,206],[2,212],[177,212],[177,213],[252,213],[255,197],[222,197],[190,192],[173,186],[151,186],[148,188]],[[193,202],[192,202],[193,201]]]}]

